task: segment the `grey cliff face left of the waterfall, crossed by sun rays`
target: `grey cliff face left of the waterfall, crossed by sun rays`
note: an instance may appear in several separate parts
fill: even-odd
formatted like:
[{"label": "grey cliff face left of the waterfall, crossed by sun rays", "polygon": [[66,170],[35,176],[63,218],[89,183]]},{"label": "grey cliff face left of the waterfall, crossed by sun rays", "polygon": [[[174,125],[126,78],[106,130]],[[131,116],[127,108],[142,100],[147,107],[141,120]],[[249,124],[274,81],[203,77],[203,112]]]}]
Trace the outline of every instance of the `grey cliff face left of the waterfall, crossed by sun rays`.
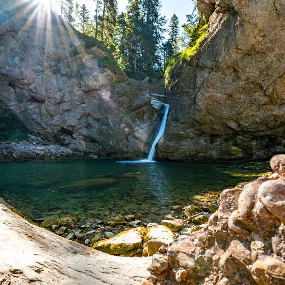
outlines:
[{"label": "grey cliff face left of the waterfall, crossed by sun rays", "polygon": [[159,113],[100,42],[21,0],[0,3],[1,110],[48,142],[111,158],[146,157]]}]

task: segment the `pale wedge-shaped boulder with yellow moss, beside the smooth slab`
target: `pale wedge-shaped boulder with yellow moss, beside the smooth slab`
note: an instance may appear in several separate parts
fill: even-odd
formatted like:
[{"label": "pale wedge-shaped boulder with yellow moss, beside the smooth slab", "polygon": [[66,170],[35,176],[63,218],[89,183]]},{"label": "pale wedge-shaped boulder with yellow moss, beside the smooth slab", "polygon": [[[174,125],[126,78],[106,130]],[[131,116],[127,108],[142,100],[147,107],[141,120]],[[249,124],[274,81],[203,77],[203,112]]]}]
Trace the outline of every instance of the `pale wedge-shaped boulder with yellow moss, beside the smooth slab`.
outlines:
[{"label": "pale wedge-shaped boulder with yellow moss, beside the smooth slab", "polygon": [[142,249],[145,234],[146,228],[133,228],[120,232],[112,238],[98,241],[92,248],[111,255],[130,257]]}]

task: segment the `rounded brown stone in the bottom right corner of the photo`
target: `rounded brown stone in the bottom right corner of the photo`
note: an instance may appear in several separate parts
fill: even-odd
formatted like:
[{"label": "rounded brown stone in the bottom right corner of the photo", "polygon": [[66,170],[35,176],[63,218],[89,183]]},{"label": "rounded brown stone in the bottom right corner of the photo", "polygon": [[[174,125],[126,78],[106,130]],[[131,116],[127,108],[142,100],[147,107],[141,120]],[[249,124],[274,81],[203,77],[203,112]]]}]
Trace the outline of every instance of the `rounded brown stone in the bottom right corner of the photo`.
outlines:
[{"label": "rounded brown stone in the bottom right corner of the photo", "polygon": [[252,276],[260,285],[284,285],[285,264],[272,257],[256,260],[252,266]]}]

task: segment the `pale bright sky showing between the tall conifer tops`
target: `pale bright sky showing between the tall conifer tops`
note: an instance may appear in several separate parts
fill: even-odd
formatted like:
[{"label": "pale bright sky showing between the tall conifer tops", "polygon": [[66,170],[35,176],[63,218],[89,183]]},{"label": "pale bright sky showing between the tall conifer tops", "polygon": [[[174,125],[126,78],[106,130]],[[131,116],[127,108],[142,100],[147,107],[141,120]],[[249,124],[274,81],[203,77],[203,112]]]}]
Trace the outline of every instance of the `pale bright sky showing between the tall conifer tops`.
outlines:
[{"label": "pale bright sky showing between the tall conifer tops", "polygon": [[[90,12],[93,14],[95,11],[94,0],[74,0],[74,3],[78,2],[80,5],[85,4]],[[119,13],[124,12],[127,7],[128,0],[118,0],[118,11]],[[186,23],[186,14],[190,14],[194,7],[194,2],[191,0],[161,0],[161,15],[166,16],[168,20],[176,14],[179,18],[180,30],[182,31],[181,25]],[[167,28],[169,22],[166,24]]]}]

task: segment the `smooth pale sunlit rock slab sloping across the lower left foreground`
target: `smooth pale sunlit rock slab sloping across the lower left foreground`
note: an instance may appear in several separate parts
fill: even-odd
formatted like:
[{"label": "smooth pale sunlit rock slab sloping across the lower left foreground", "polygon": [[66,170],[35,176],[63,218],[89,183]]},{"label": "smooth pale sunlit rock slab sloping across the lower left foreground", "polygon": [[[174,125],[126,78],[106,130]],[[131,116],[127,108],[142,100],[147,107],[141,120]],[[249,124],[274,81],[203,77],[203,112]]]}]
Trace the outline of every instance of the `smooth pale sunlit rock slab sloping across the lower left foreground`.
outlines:
[{"label": "smooth pale sunlit rock slab sloping across the lower left foreground", "polygon": [[[3,284],[138,285],[149,258],[111,256],[34,226],[0,204]],[[31,282],[33,281],[33,282]]]}]

